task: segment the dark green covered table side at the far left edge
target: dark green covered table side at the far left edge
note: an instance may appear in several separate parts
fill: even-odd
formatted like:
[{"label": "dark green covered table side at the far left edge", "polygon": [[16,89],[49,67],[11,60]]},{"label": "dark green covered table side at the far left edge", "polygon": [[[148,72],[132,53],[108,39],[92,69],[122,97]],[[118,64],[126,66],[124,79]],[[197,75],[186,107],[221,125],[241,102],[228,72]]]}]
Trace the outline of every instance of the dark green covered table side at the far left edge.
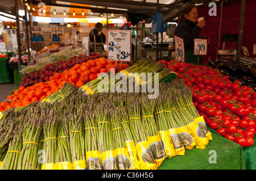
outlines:
[{"label": "dark green covered table side at the far left edge", "polygon": [[7,61],[8,61],[8,58],[0,58],[0,66],[1,66],[0,83],[12,82],[11,75],[10,75],[10,69],[9,69]]}]

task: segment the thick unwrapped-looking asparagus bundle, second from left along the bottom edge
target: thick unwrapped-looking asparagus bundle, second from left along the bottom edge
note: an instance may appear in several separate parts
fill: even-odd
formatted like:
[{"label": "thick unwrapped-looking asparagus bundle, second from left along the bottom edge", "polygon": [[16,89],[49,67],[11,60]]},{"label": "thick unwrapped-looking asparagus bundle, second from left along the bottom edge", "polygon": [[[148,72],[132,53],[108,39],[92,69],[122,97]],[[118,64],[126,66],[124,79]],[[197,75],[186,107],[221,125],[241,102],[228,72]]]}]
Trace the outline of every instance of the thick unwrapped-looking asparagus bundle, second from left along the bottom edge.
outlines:
[{"label": "thick unwrapped-looking asparagus bundle, second from left along the bottom edge", "polygon": [[23,146],[19,154],[17,170],[35,170],[38,140],[42,131],[42,119],[39,108],[30,108],[28,121],[24,122]]}]

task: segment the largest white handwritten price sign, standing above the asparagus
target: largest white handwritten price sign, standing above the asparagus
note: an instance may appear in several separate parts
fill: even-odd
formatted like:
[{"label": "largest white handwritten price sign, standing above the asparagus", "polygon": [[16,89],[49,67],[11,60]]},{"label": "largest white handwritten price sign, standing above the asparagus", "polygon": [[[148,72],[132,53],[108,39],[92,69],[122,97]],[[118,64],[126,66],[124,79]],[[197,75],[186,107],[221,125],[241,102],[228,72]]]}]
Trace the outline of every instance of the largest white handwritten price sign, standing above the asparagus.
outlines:
[{"label": "largest white handwritten price sign, standing above the asparagus", "polygon": [[108,59],[131,61],[131,31],[108,31]]}]

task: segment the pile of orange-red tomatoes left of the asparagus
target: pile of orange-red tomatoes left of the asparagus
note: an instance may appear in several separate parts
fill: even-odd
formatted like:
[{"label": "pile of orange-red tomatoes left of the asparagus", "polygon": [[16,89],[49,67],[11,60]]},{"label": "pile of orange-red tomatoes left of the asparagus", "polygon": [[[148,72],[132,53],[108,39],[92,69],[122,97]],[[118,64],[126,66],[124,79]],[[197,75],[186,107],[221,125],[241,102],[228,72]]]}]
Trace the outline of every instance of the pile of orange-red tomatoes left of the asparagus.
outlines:
[{"label": "pile of orange-red tomatoes left of the asparagus", "polygon": [[[120,70],[128,68],[129,65],[119,63]],[[113,70],[114,68],[114,70]],[[110,70],[112,69],[112,70]],[[38,82],[32,86],[19,86],[12,95],[7,96],[6,102],[0,103],[0,111],[5,111],[13,107],[24,107],[32,102],[40,101],[48,95],[61,89],[65,82],[72,83],[73,86],[81,87],[85,83],[96,79],[99,73],[107,71],[118,71],[117,61],[108,61],[104,57],[96,60],[88,60],[81,64],[75,64],[71,69],[62,73],[55,73],[46,82]]]}]

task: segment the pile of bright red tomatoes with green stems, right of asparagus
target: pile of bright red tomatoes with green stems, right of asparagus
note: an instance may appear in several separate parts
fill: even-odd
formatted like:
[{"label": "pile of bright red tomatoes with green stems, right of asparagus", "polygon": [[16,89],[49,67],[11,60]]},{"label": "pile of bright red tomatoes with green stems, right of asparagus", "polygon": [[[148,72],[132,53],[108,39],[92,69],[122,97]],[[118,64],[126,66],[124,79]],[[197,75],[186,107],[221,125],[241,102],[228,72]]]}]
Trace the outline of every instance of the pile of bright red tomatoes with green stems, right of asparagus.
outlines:
[{"label": "pile of bright red tomatoes with green stems, right of asparagus", "polygon": [[256,92],[253,89],[241,86],[239,81],[230,81],[227,75],[208,66],[174,60],[161,62],[184,79],[193,92],[193,104],[210,128],[242,147],[254,144]]}]

